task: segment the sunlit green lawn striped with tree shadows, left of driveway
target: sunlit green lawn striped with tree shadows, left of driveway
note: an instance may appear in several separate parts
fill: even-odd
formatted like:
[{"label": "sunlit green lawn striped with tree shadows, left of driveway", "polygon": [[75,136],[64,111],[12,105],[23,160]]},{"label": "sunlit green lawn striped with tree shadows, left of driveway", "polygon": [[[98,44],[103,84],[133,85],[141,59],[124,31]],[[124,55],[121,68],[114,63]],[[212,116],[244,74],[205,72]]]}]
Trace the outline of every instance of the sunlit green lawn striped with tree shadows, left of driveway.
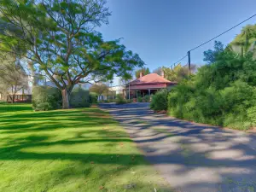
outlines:
[{"label": "sunlit green lawn striped with tree shadows, left of driveway", "polygon": [[98,108],[33,112],[0,104],[0,191],[170,191]]}]

